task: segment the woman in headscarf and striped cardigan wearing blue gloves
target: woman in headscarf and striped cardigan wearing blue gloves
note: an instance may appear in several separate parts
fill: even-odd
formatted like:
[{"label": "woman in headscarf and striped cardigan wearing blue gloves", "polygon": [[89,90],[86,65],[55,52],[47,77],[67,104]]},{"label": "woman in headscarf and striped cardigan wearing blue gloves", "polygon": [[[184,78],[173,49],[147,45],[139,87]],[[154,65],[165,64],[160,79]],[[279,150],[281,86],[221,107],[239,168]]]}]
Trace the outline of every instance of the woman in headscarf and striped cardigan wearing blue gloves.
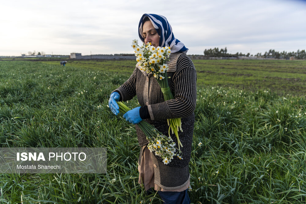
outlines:
[{"label": "woman in headscarf and striped cardigan wearing blue gloves", "polygon": [[[196,106],[196,70],[189,57],[188,49],[177,40],[167,19],[161,15],[144,14],[139,22],[139,37],[143,43],[169,46],[171,54],[167,65],[168,84],[174,99],[164,101],[163,94],[154,76],[140,70],[138,63],[130,78],[110,95],[109,106],[114,114],[119,113],[116,101],[127,101],[137,95],[140,107],[123,115],[126,121],[136,124],[138,142],[141,146],[139,156],[139,183],[147,192],[154,188],[165,203],[190,203],[187,194],[190,184],[189,161]],[[147,148],[146,136],[137,123],[147,121],[164,135],[168,135],[166,119],[181,117],[182,129],[179,138],[183,159],[174,158],[164,164],[159,156]],[[177,146],[177,139],[171,135]],[[178,146],[177,146],[178,148]]]}]

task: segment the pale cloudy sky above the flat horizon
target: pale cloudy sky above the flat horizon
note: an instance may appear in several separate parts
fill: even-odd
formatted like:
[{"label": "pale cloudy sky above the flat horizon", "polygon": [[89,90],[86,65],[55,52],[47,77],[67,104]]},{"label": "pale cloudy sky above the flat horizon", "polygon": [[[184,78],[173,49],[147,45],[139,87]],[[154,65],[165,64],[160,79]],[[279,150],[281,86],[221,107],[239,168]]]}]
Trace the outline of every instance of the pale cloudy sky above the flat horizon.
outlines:
[{"label": "pale cloudy sky above the flat horizon", "polygon": [[305,0],[0,0],[0,56],[133,53],[144,13],[163,15],[189,49],[306,49]]}]

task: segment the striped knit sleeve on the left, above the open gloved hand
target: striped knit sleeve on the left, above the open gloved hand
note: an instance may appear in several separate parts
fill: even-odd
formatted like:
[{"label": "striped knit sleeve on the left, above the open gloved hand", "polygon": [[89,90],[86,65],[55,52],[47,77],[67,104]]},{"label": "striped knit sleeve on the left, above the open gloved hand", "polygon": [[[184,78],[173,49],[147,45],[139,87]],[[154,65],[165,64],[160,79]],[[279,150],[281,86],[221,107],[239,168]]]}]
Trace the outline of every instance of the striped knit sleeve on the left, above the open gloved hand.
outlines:
[{"label": "striped knit sleeve on the left, above the open gloved hand", "polygon": [[114,90],[114,91],[119,92],[121,96],[120,101],[131,100],[136,95],[136,77],[137,77],[136,73],[137,73],[137,67],[134,69],[130,78],[125,83],[123,83],[120,87]]}]

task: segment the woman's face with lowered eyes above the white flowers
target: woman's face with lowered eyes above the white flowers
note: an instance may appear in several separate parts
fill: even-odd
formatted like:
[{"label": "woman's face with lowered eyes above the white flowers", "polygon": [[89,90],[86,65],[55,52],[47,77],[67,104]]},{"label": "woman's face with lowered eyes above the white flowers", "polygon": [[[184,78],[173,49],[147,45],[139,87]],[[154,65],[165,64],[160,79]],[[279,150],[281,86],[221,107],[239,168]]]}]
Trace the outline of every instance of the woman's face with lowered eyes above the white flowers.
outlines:
[{"label": "woman's face with lowered eyes above the white flowers", "polygon": [[142,37],[145,43],[151,43],[154,47],[159,46],[159,35],[151,23],[151,20],[144,22],[142,26]]}]

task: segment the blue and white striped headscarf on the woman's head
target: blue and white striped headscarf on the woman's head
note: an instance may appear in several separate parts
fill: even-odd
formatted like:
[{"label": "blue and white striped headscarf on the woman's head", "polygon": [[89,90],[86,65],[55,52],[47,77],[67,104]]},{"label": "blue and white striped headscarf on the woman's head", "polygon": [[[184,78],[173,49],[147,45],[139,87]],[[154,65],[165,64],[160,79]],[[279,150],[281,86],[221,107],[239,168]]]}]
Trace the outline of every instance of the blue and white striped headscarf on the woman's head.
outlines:
[{"label": "blue and white striped headscarf on the woman's head", "polygon": [[149,17],[151,23],[153,24],[154,28],[157,31],[157,34],[159,35],[159,46],[161,47],[169,46],[171,49],[171,53],[176,53],[176,52],[182,52],[184,54],[187,53],[188,49],[185,47],[185,45],[174,37],[171,25],[168,23],[166,17],[157,14],[145,13],[140,19],[138,26],[139,28],[138,35],[143,43],[144,43],[144,38],[142,37],[142,25],[143,25],[143,20],[146,16]]}]

